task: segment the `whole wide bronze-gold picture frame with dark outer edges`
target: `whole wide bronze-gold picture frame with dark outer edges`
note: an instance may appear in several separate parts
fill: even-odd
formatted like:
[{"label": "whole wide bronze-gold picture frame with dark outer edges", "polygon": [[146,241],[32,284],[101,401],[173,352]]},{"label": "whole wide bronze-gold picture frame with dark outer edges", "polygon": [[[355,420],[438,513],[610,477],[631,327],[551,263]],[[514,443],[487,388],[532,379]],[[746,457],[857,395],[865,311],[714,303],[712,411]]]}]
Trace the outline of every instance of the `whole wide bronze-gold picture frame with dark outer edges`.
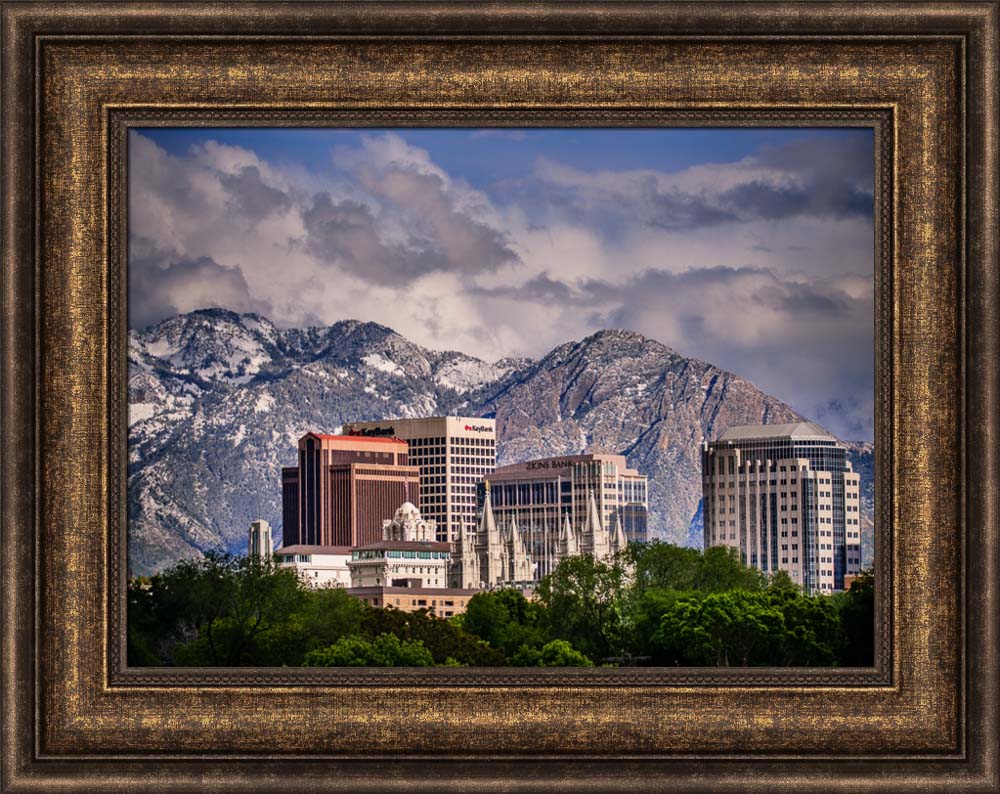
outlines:
[{"label": "whole wide bronze-gold picture frame with dark outer edges", "polygon": [[[9,791],[996,790],[996,2],[2,3]],[[127,133],[868,126],[871,669],[129,668]]]}]

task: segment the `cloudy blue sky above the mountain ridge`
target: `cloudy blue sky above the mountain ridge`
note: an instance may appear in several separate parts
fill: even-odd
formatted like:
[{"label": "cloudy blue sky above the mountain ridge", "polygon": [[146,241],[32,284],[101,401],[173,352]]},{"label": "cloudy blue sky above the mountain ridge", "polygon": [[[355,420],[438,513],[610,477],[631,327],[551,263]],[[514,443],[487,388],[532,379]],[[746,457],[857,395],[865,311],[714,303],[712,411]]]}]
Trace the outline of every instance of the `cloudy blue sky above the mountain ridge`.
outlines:
[{"label": "cloudy blue sky above the mountain ridge", "polygon": [[207,306],[539,356],[628,328],[871,439],[869,130],[148,129],[133,327]]}]

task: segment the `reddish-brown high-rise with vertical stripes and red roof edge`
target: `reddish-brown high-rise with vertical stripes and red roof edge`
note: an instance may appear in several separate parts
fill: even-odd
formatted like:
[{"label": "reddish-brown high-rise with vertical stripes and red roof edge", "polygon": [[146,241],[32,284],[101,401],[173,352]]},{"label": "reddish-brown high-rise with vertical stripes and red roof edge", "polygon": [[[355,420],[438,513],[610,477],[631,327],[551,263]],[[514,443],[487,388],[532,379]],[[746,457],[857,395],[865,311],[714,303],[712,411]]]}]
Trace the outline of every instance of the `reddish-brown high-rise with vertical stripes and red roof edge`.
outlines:
[{"label": "reddish-brown high-rise with vertical stripes and red roof edge", "polygon": [[419,499],[420,470],[401,439],[306,433],[298,458],[298,466],[281,470],[285,546],[380,540],[384,517]]}]

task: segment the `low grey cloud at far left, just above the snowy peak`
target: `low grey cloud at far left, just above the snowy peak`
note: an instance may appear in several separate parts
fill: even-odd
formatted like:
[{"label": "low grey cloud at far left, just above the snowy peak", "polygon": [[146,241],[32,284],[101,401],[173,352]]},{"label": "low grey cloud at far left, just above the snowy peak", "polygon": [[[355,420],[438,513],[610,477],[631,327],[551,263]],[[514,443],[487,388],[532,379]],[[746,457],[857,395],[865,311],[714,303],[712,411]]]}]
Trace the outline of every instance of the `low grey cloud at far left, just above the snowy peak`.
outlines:
[{"label": "low grey cloud at far left, just above the snowy peak", "polygon": [[239,267],[211,257],[186,258],[133,241],[129,255],[129,327],[145,328],[193,309],[220,307],[271,314],[271,304],[250,294]]}]

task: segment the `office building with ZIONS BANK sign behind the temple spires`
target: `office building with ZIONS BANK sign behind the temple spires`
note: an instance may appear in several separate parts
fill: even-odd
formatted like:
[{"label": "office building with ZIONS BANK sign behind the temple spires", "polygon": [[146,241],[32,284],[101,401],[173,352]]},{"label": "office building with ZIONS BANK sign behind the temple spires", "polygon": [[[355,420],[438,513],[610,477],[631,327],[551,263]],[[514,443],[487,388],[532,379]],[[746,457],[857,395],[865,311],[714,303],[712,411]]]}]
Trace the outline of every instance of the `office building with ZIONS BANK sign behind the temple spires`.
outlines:
[{"label": "office building with ZIONS BANK sign behind the temple spires", "polygon": [[[580,553],[602,556],[602,532],[609,539],[621,533],[626,542],[647,539],[646,476],[630,469],[622,455],[566,455],[501,466],[490,475],[489,485],[497,522],[517,522],[536,578],[566,556],[560,552],[560,536],[567,520],[571,546],[598,539],[596,549],[581,547]],[[481,485],[480,510],[485,496]]]}]

